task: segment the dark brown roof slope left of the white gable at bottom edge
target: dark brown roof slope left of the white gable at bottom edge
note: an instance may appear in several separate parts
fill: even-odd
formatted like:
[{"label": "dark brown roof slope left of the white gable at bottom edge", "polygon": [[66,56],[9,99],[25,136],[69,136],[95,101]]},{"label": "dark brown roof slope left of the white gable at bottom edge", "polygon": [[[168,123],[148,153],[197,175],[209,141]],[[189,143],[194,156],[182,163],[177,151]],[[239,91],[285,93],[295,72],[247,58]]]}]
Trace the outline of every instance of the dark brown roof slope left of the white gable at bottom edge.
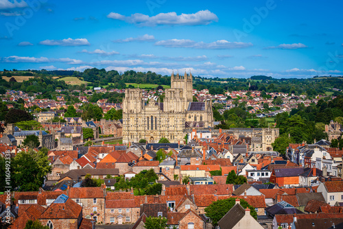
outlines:
[{"label": "dark brown roof slope left of the white gable at bottom edge", "polygon": [[235,204],[225,215],[218,221],[220,228],[233,228],[246,215],[246,210],[241,204]]}]

